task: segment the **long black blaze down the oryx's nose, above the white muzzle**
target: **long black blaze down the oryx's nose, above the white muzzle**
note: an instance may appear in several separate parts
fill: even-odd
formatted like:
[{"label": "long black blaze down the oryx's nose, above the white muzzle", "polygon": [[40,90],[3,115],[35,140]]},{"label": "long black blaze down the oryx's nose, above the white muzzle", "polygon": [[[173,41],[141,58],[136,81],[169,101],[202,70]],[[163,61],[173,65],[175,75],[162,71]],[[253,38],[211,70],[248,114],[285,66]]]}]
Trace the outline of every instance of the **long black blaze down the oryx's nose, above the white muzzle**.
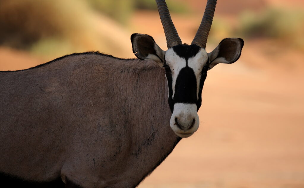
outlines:
[{"label": "long black blaze down the oryx's nose, above the white muzzle", "polygon": [[174,88],[175,103],[196,103],[197,102],[197,85],[196,77],[192,68],[184,67],[179,72]]}]

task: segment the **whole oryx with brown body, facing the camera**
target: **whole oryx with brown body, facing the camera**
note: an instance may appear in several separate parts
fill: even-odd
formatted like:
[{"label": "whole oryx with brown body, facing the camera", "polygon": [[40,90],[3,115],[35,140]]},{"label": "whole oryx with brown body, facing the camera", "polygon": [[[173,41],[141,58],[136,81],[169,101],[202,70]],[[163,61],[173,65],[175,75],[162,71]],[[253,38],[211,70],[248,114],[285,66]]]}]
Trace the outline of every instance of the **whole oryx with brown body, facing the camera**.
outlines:
[{"label": "whole oryx with brown body, facing the camera", "polygon": [[133,34],[139,59],[87,52],[0,72],[1,187],[132,188],[198,129],[207,71],[237,61],[244,42],[226,38],[206,52],[208,0],[192,44],[182,44],[156,2],[166,51]]}]

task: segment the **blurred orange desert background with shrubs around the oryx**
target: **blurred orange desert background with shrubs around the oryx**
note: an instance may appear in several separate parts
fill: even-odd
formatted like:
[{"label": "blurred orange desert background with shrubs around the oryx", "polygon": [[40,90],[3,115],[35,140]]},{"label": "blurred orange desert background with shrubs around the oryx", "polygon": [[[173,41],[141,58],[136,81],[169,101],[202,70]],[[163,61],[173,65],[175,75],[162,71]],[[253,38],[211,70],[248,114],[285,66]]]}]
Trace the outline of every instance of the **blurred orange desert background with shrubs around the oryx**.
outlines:
[{"label": "blurred orange desert background with shrubs around the oryx", "polygon": [[[167,4],[191,44],[206,0]],[[0,70],[91,50],[135,58],[132,33],[167,49],[154,0],[0,0]],[[304,187],[304,1],[219,0],[207,52],[226,37],[245,45],[209,71],[199,130],[138,188]]]}]

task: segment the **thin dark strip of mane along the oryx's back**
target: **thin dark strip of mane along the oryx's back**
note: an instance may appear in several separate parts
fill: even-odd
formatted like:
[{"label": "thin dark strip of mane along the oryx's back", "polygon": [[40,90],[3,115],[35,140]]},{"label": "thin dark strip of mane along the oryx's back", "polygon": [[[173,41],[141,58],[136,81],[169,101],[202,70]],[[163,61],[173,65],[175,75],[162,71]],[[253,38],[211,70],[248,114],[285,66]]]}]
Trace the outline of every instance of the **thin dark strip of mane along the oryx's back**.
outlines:
[{"label": "thin dark strip of mane along the oryx's back", "polygon": [[[44,65],[47,65],[47,64],[50,64],[50,63],[53,63],[55,61],[59,61],[61,59],[64,59],[65,57],[69,57],[69,56],[77,56],[77,55],[102,55],[102,56],[105,56],[105,57],[112,57],[112,58],[115,58],[115,59],[119,59],[119,60],[132,60],[132,59],[123,59],[123,58],[119,58],[119,57],[114,57],[112,55],[108,55],[108,54],[103,54],[103,53],[100,53],[99,51],[88,51],[88,52],[83,52],[83,53],[74,53],[74,54],[68,54],[68,55],[64,55],[62,57],[58,57],[52,61],[49,61],[49,62],[46,62],[46,63],[43,63],[43,64],[39,64],[35,67],[31,67],[31,68],[27,68],[27,69],[22,69],[22,70],[16,70],[16,71],[25,71],[25,70],[29,70],[29,69],[34,69],[34,68],[40,68]],[[16,72],[16,71],[0,71],[0,72]]]}]

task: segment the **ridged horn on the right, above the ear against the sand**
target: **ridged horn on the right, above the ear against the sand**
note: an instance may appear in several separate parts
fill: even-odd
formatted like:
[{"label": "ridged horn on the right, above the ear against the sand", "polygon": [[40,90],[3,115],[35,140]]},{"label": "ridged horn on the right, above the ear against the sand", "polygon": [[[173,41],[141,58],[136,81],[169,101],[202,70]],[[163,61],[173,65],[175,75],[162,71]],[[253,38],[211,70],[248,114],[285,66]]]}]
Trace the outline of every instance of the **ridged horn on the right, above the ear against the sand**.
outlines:
[{"label": "ridged horn on the right, above the ear against the sand", "polygon": [[191,44],[196,44],[206,49],[207,38],[212,25],[213,15],[217,0],[208,0],[201,25]]}]

